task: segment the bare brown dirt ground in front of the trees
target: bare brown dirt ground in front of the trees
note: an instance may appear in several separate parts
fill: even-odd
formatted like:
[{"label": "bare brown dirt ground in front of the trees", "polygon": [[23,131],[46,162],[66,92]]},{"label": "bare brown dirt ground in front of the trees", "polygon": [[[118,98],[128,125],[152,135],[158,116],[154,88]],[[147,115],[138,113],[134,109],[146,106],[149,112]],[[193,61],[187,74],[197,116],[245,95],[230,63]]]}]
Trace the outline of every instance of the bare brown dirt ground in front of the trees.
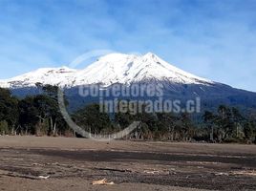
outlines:
[{"label": "bare brown dirt ground in front of the trees", "polygon": [[0,137],[0,190],[256,190],[256,145]]}]

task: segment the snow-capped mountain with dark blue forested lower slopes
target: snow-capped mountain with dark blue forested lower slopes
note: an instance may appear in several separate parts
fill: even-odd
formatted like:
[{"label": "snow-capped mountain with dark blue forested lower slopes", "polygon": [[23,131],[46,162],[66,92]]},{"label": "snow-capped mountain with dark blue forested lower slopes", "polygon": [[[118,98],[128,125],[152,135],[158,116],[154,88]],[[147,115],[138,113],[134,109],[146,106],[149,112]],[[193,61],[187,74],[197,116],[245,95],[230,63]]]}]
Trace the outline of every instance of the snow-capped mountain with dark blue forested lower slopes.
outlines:
[{"label": "snow-capped mountain with dark blue forested lower slopes", "polygon": [[36,83],[63,87],[71,103],[69,109],[73,111],[84,104],[98,101],[96,100],[98,97],[79,96],[79,85],[101,84],[111,89],[112,85],[117,83],[125,85],[161,83],[163,98],[185,102],[200,97],[203,109],[214,109],[225,104],[245,110],[248,108],[256,110],[256,93],[186,73],[154,53],[141,56],[111,53],[101,56],[83,70],[68,67],[38,69],[2,80],[0,87],[10,88],[14,96],[24,97],[40,94]]}]

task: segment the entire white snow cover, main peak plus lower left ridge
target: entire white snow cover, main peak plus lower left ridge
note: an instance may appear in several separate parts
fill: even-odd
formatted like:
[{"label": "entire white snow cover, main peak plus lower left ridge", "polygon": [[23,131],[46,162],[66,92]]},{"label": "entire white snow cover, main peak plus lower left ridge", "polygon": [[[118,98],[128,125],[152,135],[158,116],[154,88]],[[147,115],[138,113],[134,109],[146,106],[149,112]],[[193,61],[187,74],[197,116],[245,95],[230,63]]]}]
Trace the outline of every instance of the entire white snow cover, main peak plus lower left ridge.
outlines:
[{"label": "entire white snow cover, main peak plus lower left ridge", "polygon": [[45,68],[0,81],[0,87],[31,87],[35,83],[52,84],[61,87],[101,83],[131,84],[133,82],[155,79],[181,84],[204,84],[214,82],[186,73],[168,64],[153,53],[138,56],[134,54],[111,53],[100,57],[84,70]]}]

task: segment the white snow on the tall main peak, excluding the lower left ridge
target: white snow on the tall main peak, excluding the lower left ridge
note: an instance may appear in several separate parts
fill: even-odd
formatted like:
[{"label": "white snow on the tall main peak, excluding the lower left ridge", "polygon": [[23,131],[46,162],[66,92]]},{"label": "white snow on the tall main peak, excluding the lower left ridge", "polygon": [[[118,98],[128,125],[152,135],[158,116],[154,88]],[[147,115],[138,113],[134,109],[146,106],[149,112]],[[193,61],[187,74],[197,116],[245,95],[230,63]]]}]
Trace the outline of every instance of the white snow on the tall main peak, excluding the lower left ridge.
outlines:
[{"label": "white snow on the tall main peak, excluding the lower left ridge", "polygon": [[75,85],[80,85],[81,81],[85,84],[129,84],[152,78],[184,84],[212,83],[210,80],[181,71],[153,53],[143,56],[111,53],[78,72],[77,76]]}]

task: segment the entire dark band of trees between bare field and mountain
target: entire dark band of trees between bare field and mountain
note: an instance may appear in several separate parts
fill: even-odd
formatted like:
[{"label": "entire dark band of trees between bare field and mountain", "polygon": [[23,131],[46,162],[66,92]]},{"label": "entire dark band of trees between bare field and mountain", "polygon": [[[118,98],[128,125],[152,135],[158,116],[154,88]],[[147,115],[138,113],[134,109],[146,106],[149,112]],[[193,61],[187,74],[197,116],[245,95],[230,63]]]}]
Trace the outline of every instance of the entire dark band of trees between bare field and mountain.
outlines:
[{"label": "entire dark band of trees between bare field and mountain", "polygon": [[[58,88],[39,88],[40,95],[25,98],[0,89],[0,135],[78,136],[59,111]],[[256,115],[245,116],[239,109],[224,105],[214,112],[204,111],[197,121],[186,113],[127,112],[113,116],[100,113],[98,104],[87,105],[72,117],[79,126],[96,135],[118,132],[137,120],[141,125],[127,139],[256,143]]]}]

